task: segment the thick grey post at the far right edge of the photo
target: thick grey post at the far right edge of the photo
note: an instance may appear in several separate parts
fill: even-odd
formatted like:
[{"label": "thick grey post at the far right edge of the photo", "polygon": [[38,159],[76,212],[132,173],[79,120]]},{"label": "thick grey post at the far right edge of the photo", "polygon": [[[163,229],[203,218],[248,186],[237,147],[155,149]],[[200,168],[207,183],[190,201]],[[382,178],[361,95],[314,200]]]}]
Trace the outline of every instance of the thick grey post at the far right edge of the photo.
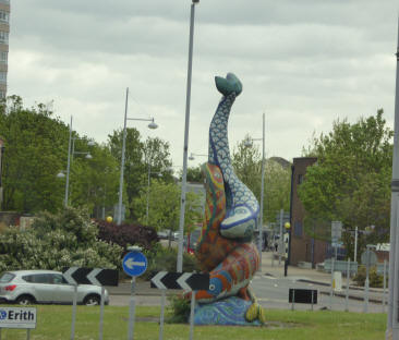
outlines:
[{"label": "thick grey post at the far right edge of the photo", "polygon": [[399,339],[399,22],[396,63],[394,159],[390,198],[389,299],[386,339]]}]

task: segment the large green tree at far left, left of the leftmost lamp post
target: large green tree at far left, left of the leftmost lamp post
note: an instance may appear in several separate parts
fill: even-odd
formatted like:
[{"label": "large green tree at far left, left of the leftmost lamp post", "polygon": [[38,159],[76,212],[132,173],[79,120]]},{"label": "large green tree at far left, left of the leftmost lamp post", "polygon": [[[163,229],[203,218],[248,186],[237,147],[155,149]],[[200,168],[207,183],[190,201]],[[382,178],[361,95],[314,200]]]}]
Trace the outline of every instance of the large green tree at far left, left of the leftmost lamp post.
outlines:
[{"label": "large green tree at far left, left of the leftmost lamp post", "polygon": [[26,109],[17,96],[9,102],[0,106],[0,135],[5,139],[2,208],[56,211],[63,197],[56,174],[66,163],[69,129],[43,104]]}]

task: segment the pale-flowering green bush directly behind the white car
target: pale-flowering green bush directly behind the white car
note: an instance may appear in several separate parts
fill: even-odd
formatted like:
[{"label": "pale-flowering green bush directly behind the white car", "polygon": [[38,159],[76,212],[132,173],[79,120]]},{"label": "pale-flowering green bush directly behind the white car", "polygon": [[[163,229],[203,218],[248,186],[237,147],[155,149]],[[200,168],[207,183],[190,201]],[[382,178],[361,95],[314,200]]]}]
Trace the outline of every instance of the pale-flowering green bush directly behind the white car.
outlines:
[{"label": "pale-flowering green bush directly behind the white car", "polygon": [[0,234],[0,272],[64,267],[119,268],[122,248],[97,240],[97,226],[83,210],[40,214],[32,228]]}]

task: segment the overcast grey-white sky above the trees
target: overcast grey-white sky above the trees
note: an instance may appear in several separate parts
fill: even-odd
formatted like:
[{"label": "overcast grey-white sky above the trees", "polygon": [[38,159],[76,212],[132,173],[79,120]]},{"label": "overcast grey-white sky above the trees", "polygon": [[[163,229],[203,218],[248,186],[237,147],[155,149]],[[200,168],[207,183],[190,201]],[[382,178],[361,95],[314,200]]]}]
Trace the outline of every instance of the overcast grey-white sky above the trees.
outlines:
[{"label": "overcast grey-white sky above the trees", "polygon": [[[189,0],[11,0],[9,95],[50,102],[81,135],[129,126],[170,143],[182,166]],[[195,7],[189,153],[206,154],[220,99],[215,75],[243,83],[230,146],[250,133],[267,157],[300,157],[312,133],[384,108],[394,125],[397,0],[201,0]],[[261,143],[259,143],[261,146]],[[189,162],[196,166],[206,159]]]}]

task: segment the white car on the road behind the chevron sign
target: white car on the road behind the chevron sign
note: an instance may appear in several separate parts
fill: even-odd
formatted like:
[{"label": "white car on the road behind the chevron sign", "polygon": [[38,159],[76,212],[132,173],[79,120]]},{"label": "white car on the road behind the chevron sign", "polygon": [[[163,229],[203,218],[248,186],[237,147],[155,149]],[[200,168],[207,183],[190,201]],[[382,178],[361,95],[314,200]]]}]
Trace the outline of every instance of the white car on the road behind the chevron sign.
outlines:
[{"label": "white car on the road behind the chevron sign", "polygon": [[[69,284],[60,271],[16,270],[0,275],[0,302],[27,305],[33,303],[72,304],[74,286]],[[101,301],[101,287],[77,286],[77,303],[98,305]],[[105,290],[105,304],[109,295]]]}]

